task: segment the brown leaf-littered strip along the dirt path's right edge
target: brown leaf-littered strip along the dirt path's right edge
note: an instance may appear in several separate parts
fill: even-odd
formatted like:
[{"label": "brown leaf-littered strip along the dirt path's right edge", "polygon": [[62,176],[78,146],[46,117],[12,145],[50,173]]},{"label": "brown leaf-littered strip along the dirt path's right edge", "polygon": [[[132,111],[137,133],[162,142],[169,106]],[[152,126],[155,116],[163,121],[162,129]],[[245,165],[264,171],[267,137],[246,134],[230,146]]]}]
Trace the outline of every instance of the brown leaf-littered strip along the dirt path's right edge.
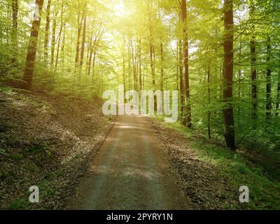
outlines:
[{"label": "brown leaf-littered strip along the dirt path's right edge", "polygon": [[190,198],[193,209],[244,209],[239,202],[239,187],[228,183],[213,163],[200,159],[190,146],[190,141],[201,138],[199,135],[188,139],[153,118],[147,119],[162,150],[167,152],[172,167],[179,174],[183,192]]}]

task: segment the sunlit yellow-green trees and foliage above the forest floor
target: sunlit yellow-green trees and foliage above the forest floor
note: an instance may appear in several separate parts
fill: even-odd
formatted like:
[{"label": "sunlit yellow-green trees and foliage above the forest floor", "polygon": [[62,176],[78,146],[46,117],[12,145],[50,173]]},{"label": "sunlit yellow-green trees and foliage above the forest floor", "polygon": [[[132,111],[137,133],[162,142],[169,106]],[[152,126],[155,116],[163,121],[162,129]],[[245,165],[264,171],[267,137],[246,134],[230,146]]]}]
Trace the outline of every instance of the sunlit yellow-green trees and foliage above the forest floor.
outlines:
[{"label": "sunlit yellow-green trees and foliage above the forest floor", "polygon": [[179,90],[186,128],[279,150],[279,1],[0,4],[1,83],[87,99],[118,85]]}]

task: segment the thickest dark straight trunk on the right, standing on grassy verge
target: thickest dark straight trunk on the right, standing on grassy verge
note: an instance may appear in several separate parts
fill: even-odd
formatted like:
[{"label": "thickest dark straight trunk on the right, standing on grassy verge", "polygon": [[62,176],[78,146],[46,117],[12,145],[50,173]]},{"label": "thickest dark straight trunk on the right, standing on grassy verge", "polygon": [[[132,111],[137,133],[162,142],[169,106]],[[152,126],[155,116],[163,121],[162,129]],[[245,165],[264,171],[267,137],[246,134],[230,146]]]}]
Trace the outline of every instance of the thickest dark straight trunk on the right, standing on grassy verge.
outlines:
[{"label": "thickest dark straight trunk on the right, standing on grassy verge", "polygon": [[233,3],[232,0],[225,0],[225,74],[223,99],[228,103],[227,109],[224,110],[225,116],[225,142],[229,148],[235,150],[235,120],[232,105],[232,79],[233,79]]}]

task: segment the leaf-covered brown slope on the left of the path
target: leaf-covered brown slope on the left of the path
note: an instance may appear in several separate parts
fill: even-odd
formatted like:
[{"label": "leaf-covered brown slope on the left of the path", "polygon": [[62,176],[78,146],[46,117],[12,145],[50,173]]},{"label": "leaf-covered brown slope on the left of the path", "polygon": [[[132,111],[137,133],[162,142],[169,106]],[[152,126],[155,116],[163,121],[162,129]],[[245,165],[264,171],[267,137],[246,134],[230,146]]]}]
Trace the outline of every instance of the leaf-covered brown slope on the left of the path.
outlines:
[{"label": "leaf-covered brown slope on the left of the path", "polygon": [[0,91],[0,209],[65,209],[113,127],[101,107],[100,99]]}]

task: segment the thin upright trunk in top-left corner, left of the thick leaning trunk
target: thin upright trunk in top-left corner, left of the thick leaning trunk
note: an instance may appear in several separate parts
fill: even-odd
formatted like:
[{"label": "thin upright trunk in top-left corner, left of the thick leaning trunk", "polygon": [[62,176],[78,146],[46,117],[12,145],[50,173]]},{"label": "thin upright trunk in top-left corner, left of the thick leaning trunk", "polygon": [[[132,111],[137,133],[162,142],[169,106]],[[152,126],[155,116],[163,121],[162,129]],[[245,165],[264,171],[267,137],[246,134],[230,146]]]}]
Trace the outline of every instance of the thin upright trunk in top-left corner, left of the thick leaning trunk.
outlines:
[{"label": "thin upright trunk in top-left corner, left of the thick leaning trunk", "polygon": [[12,28],[12,65],[17,61],[18,50],[18,0],[12,0],[13,28]]}]

